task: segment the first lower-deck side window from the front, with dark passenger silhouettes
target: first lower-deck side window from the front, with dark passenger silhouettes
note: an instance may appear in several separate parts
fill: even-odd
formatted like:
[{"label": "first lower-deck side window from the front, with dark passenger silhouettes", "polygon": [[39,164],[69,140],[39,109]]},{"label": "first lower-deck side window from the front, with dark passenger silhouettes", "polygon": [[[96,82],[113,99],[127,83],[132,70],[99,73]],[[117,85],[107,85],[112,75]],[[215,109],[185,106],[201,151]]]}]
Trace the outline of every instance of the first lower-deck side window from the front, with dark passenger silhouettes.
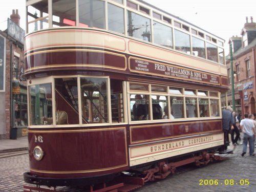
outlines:
[{"label": "first lower-deck side window from the front, with dark passenger silhouettes", "polygon": [[132,121],[150,119],[149,95],[131,94],[130,95]]}]

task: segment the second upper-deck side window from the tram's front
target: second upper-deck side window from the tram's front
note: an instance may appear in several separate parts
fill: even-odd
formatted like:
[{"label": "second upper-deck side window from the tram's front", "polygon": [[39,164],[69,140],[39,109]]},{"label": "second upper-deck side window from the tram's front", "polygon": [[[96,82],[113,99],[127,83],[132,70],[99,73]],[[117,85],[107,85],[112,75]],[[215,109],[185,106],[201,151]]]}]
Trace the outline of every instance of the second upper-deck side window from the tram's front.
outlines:
[{"label": "second upper-deck side window from the tram's front", "polygon": [[153,29],[156,44],[173,48],[173,28],[154,21]]}]

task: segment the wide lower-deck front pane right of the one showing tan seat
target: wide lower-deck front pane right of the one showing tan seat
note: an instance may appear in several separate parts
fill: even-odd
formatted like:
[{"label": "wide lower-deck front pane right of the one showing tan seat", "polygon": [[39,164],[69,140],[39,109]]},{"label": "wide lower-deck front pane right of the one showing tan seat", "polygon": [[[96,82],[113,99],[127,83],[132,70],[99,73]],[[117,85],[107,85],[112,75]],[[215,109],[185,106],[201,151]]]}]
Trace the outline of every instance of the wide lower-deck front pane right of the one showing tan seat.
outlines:
[{"label": "wide lower-deck front pane right of the one showing tan seat", "polygon": [[108,79],[82,77],[81,104],[85,123],[108,123]]}]

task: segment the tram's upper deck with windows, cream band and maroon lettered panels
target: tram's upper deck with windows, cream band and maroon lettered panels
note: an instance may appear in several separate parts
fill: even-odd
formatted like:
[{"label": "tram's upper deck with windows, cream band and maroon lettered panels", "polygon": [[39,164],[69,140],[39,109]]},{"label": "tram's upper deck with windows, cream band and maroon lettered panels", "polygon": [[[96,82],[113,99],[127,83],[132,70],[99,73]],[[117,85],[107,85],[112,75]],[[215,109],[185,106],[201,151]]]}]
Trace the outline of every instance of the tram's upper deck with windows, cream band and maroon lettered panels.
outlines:
[{"label": "tram's upper deck with windows, cream band and maroon lettered panels", "polygon": [[[60,66],[69,70],[93,67],[204,80],[193,71],[197,69],[212,74],[205,82],[227,84],[223,39],[143,1],[77,0],[63,4],[28,0],[26,4],[25,74],[58,70]],[[87,61],[84,54],[89,55]],[[148,69],[151,62],[154,69]],[[193,76],[184,67],[192,69]],[[175,76],[177,70],[181,71],[179,76]]]}]

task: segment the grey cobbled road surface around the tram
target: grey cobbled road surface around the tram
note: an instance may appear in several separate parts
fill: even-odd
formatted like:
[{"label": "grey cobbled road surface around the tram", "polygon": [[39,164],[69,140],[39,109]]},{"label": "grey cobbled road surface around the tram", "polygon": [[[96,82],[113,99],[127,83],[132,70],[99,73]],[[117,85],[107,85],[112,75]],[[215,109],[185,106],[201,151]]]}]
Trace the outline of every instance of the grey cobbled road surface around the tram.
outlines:
[{"label": "grey cobbled road surface around the tram", "polygon": [[[228,155],[222,162],[199,168],[194,165],[178,168],[176,174],[165,180],[146,184],[135,192],[256,191],[256,156],[250,157],[247,153],[245,157],[241,157],[241,150],[242,145],[237,146],[234,154]],[[22,186],[25,184],[23,173],[28,170],[28,154],[0,158],[0,191],[23,191]],[[202,180],[202,185],[199,185],[200,180]],[[216,183],[210,185],[209,182],[212,181]],[[61,190],[84,191],[75,187],[62,187]]]}]

